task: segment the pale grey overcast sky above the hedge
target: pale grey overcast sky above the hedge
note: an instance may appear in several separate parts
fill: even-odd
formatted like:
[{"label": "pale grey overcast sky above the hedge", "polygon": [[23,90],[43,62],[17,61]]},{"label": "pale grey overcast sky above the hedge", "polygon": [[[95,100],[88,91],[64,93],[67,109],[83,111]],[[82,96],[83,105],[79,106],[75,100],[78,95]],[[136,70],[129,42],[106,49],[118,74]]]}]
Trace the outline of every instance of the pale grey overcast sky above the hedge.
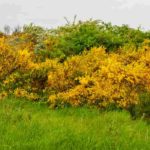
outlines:
[{"label": "pale grey overcast sky above the hedge", "polygon": [[150,30],[150,0],[0,0],[0,29],[31,22],[51,28],[74,15]]}]

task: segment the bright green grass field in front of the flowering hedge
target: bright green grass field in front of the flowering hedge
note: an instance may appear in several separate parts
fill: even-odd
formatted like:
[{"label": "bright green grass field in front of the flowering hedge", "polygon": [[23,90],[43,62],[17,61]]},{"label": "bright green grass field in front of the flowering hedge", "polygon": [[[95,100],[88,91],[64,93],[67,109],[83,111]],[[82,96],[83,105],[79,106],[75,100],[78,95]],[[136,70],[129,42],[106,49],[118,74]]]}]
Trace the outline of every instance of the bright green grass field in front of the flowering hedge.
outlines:
[{"label": "bright green grass field in front of the flowering hedge", "polygon": [[22,99],[0,101],[0,150],[149,150],[150,126],[127,112],[50,110]]}]

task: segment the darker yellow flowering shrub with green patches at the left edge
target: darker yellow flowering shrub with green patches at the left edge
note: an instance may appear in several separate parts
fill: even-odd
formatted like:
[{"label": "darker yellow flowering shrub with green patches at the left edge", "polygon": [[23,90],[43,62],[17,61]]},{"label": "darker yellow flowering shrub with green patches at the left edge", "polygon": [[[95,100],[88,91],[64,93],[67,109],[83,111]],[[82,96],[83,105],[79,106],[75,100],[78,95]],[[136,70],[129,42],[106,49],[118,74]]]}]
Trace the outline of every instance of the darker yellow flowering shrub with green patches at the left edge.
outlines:
[{"label": "darker yellow flowering shrub with green patches at the left edge", "polygon": [[[26,91],[26,98],[39,99],[46,90],[47,73],[57,65],[57,60],[36,62],[32,51],[14,49],[4,37],[0,38],[0,92],[16,96],[16,90]],[[22,93],[22,92],[21,92]],[[20,93],[20,97],[24,97]]]}]

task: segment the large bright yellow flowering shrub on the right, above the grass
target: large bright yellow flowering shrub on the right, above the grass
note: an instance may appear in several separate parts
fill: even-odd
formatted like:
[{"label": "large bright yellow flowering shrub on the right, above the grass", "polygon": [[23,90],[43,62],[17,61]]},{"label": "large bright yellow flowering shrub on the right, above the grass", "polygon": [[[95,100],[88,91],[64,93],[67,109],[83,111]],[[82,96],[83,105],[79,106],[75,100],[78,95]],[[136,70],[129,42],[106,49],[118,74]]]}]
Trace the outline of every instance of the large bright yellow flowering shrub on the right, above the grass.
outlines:
[{"label": "large bright yellow flowering shrub on the right, above the grass", "polygon": [[[150,48],[131,54],[106,54],[103,48],[93,48],[81,56],[73,56],[64,63],[68,66],[69,76],[65,72],[67,67],[64,67],[59,72],[60,80],[57,73],[50,78],[57,80],[52,85],[56,85],[56,92],[49,96],[50,104],[53,107],[66,104],[106,107],[115,104],[122,108],[137,104],[139,93],[149,90],[150,86],[149,53]],[[128,57],[131,59],[126,59]],[[80,71],[79,76],[74,76],[76,71]]]}]

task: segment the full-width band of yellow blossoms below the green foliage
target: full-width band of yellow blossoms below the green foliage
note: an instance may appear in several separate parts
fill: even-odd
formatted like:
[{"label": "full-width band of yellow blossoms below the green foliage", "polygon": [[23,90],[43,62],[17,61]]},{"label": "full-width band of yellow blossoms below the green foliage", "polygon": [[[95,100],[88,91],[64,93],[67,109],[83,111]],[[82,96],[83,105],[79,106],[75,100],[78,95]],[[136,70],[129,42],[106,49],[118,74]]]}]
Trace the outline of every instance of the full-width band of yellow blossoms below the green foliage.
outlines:
[{"label": "full-width band of yellow blossoms below the green foliage", "polygon": [[12,94],[44,98],[51,107],[115,104],[127,108],[138,103],[141,92],[150,91],[149,43],[145,41],[139,50],[124,47],[116,53],[92,48],[60,62],[39,61],[32,44],[17,49],[0,38],[0,99]]}]

